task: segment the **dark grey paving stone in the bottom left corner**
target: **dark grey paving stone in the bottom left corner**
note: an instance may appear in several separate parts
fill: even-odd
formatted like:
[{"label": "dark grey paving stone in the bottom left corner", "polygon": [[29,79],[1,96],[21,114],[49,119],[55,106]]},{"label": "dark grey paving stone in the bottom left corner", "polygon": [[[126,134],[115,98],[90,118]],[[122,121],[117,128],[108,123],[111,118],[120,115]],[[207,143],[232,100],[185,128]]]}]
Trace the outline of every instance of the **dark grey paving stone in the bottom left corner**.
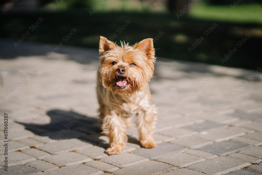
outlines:
[{"label": "dark grey paving stone in the bottom left corner", "polygon": [[8,166],[8,171],[5,171],[4,168],[0,168],[0,174],[8,174],[8,175],[35,175],[41,173],[41,171],[32,168],[30,166],[26,166],[23,164]]}]

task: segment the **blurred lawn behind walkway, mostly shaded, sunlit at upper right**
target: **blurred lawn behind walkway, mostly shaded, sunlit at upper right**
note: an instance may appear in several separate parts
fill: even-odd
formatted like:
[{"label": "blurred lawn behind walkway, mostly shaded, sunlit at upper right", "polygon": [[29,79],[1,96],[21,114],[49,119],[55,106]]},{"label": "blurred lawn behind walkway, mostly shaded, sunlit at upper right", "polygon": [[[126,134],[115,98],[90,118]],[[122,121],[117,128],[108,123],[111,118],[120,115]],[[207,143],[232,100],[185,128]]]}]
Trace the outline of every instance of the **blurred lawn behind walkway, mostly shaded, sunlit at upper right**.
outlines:
[{"label": "blurred lawn behind walkway, mostly shaded, sunlit at upper right", "polygon": [[[247,13],[251,15],[246,15]],[[78,31],[64,45],[97,49],[100,35],[109,39],[116,34],[114,42],[119,43],[121,40],[134,44],[145,38],[157,39],[157,35],[162,31],[164,34],[154,42],[158,57],[256,69],[262,65],[261,16],[261,6],[251,5],[239,5],[233,11],[229,6],[196,5],[189,11],[188,16],[183,15],[179,19],[176,14],[171,13],[133,11],[103,13],[102,10],[98,10],[92,17],[88,9],[9,11],[0,15],[0,37],[17,41],[38,17],[45,20],[30,32],[26,41],[57,45],[72,28],[75,28]],[[131,23],[119,33],[117,29],[124,25],[125,20]],[[215,22],[219,25],[205,36],[203,32]],[[247,33],[252,37],[223,64],[221,59],[229,50],[237,47],[236,43]],[[189,53],[188,47],[201,36],[204,36],[204,40]]]}]

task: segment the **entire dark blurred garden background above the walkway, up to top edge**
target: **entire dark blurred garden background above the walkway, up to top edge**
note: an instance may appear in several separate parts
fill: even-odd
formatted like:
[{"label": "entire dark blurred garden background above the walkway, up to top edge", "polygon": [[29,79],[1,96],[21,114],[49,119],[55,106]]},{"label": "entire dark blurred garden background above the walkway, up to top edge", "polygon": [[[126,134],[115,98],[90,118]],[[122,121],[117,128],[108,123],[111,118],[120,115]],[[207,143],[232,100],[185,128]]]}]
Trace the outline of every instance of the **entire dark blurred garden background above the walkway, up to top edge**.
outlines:
[{"label": "entire dark blurred garden background above the walkway, up to top edge", "polygon": [[[128,41],[130,44],[154,38],[157,57],[248,69],[262,65],[262,8],[258,0],[238,0],[239,4],[233,10],[231,6],[236,3],[233,0],[106,0],[97,10],[94,8],[102,1],[44,0],[26,3],[28,1],[18,0],[4,12],[3,9],[14,1],[1,1],[1,39],[17,42],[26,31],[30,31],[25,41],[54,46],[63,42],[64,45],[97,49],[100,35],[117,43]],[[177,14],[189,2],[193,6],[178,19]],[[91,16],[90,12],[94,14]],[[41,17],[43,22],[31,31],[29,27]],[[122,31],[118,30],[126,20],[131,23],[124,26]],[[215,22],[219,25],[205,36],[203,32]],[[65,43],[63,37],[72,28],[77,32]],[[248,33],[252,36],[239,48],[236,44]],[[113,38],[116,36],[114,34],[116,38]],[[204,40],[189,53],[188,47],[201,36],[204,36]],[[234,47],[237,47],[237,51],[222,63],[221,59]],[[13,57],[10,55],[8,58]]]}]

